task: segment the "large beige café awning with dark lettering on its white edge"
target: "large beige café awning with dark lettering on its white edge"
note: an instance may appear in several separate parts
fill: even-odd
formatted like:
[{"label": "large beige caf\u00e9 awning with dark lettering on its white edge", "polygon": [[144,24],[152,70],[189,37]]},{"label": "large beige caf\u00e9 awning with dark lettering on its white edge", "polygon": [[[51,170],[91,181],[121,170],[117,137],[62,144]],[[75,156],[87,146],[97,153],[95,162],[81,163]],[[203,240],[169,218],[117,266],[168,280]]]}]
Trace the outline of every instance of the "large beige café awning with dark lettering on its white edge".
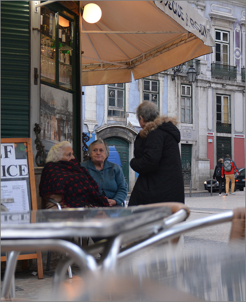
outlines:
[{"label": "large beige caf\u00e9 awning with dark lettering on its white edge", "polygon": [[102,10],[81,17],[82,85],[131,82],[213,52],[203,18],[187,1],[80,1]]}]

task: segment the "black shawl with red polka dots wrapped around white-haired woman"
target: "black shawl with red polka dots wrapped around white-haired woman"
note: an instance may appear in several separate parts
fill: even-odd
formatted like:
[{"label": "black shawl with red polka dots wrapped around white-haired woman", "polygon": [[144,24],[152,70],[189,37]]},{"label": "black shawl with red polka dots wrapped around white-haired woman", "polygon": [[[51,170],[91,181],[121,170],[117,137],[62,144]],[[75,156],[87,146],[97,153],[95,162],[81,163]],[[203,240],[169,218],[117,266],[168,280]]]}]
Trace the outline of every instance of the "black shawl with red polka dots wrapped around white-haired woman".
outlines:
[{"label": "black shawl with red polka dots wrapped around white-haired woman", "polygon": [[106,197],[86,168],[77,159],[48,162],[42,171],[39,195],[62,194],[62,207],[108,207]]}]

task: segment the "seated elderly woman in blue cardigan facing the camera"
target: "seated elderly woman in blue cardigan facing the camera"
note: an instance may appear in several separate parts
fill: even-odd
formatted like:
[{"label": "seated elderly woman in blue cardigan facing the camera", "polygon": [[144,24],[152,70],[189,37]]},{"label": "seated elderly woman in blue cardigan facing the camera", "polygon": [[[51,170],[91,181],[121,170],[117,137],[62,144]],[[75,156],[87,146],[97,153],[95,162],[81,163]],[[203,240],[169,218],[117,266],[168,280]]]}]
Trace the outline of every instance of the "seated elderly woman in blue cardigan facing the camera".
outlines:
[{"label": "seated elderly woman in blue cardigan facing the camera", "polygon": [[101,194],[107,197],[110,207],[123,206],[128,187],[122,169],[109,162],[109,146],[103,140],[95,140],[88,147],[89,160],[81,162],[99,185]]}]

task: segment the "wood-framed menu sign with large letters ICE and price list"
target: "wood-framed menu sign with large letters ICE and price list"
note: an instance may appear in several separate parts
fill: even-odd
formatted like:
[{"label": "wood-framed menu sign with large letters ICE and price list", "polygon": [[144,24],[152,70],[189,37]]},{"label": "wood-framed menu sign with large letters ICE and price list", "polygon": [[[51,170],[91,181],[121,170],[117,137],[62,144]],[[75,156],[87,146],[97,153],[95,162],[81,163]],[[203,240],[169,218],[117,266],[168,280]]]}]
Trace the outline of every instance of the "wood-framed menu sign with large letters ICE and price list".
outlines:
[{"label": "wood-framed menu sign with large letters ICE and price list", "polygon": [[31,138],[1,139],[1,204],[9,211],[37,210]]}]

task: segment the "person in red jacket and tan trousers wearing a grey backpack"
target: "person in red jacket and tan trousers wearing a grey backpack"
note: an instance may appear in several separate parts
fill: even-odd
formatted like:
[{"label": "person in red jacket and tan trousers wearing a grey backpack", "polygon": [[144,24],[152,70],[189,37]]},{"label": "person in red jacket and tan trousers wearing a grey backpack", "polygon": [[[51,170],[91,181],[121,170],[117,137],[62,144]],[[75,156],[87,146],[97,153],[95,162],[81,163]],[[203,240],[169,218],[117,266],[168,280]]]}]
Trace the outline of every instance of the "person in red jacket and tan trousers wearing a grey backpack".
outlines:
[{"label": "person in red jacket and tan trousers wearing a grey backpack", "polygon": [[[235,177],[234,177],[234,173],[237,172],[238,173],[238,168],[236,163],[234,162],[234,160],[232,160],[230,158],[230,155],[227,154],[226,158],[224,160],[224,164],[222,166],[222,172],[221,172],[221,177],[223,178],[225,176],[225,194],[224,195],[228,195],[229,193],[229,182],[231,180],[231,194],[232,195],[236,195],[234,192],[234,188],[235,188]],[[239,173],[238,173],[239,175]]]}]

